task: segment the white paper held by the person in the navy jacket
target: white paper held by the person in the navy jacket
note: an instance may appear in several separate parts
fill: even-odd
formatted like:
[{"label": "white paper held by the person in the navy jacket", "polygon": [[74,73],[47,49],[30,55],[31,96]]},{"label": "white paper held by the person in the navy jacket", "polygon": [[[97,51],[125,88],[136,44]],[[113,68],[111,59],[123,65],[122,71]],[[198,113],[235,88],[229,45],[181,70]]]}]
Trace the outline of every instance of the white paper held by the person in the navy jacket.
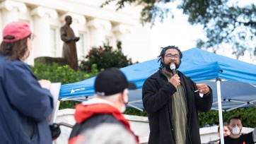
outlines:
[{"label": "white paper held by the person in the navy jacket", "polygon": [[50,114],[50,116],[47,119],[48,124],[53,124],[57,117],[57,112],[59,110],[59,90],[61,85],[62,83],[51,83],[50,92],[53,98],[53,110],[52,114]]}]

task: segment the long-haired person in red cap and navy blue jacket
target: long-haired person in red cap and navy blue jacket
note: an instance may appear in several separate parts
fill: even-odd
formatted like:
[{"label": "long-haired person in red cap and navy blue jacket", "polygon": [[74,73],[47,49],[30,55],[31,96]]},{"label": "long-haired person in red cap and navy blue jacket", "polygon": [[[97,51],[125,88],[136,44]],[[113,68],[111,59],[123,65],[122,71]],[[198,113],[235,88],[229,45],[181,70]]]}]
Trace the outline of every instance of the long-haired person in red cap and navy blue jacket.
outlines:
[{"label": "long-haired person in red cap and navy blue jacket", "polygon": [[8,23],[0,46],[0,143],[52,143],[50,81],[39,80],[25,64],[33,32],[23,22]]}]

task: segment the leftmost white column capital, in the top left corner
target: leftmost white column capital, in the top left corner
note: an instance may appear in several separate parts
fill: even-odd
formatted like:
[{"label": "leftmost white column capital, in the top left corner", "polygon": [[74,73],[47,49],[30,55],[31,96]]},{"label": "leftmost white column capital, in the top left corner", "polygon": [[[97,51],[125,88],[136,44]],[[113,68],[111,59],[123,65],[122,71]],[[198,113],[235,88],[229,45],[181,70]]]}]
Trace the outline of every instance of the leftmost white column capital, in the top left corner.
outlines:
[{"label": "leftmost white column capital, in the top left corner", "polygon": [[21,13],[25,13],[27,11],[27,6],[24,3],[17,1],[3,1],[0,4],[0,9],[4,8],[8,11],[13,11],[13,9],[17,9]]}]

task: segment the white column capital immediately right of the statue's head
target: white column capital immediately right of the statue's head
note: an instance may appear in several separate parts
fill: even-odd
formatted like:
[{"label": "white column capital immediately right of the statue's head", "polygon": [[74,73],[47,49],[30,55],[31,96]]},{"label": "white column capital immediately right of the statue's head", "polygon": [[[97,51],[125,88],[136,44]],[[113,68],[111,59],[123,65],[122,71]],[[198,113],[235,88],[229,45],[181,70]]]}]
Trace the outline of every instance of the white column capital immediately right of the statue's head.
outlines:
[{"label": "white column capital immediately right of the statue's head", "polygon": [[105,30],[111,30],[112,25],[111,25],[110,21],[100,20],[100,19],[95,18],[88,22],[88,27],[96,28],[96,29],[104,28]]}]

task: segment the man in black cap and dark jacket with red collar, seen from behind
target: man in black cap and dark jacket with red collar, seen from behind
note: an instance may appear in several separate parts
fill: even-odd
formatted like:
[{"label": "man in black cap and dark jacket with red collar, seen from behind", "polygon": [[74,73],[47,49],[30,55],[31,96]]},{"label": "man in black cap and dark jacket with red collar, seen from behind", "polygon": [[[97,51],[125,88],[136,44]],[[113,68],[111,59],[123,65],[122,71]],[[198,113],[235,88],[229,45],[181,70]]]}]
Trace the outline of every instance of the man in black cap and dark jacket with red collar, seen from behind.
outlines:
[{"label": "man in black cap and dark jacket with red collar, seen from behind", "polygon": [[129,100],[128,89],[136,89],[136,85],[129,83],[124,73],[117,68],[107,68],[99,73],[94,85],[95,97],[76,105],[76,124],[71,131],[69,144],[86,141],[87,138],[82,135],[84,131],[105,123],[123,126],[139,143],[139,138],[134,135],[129,122],[122,115]]}]

